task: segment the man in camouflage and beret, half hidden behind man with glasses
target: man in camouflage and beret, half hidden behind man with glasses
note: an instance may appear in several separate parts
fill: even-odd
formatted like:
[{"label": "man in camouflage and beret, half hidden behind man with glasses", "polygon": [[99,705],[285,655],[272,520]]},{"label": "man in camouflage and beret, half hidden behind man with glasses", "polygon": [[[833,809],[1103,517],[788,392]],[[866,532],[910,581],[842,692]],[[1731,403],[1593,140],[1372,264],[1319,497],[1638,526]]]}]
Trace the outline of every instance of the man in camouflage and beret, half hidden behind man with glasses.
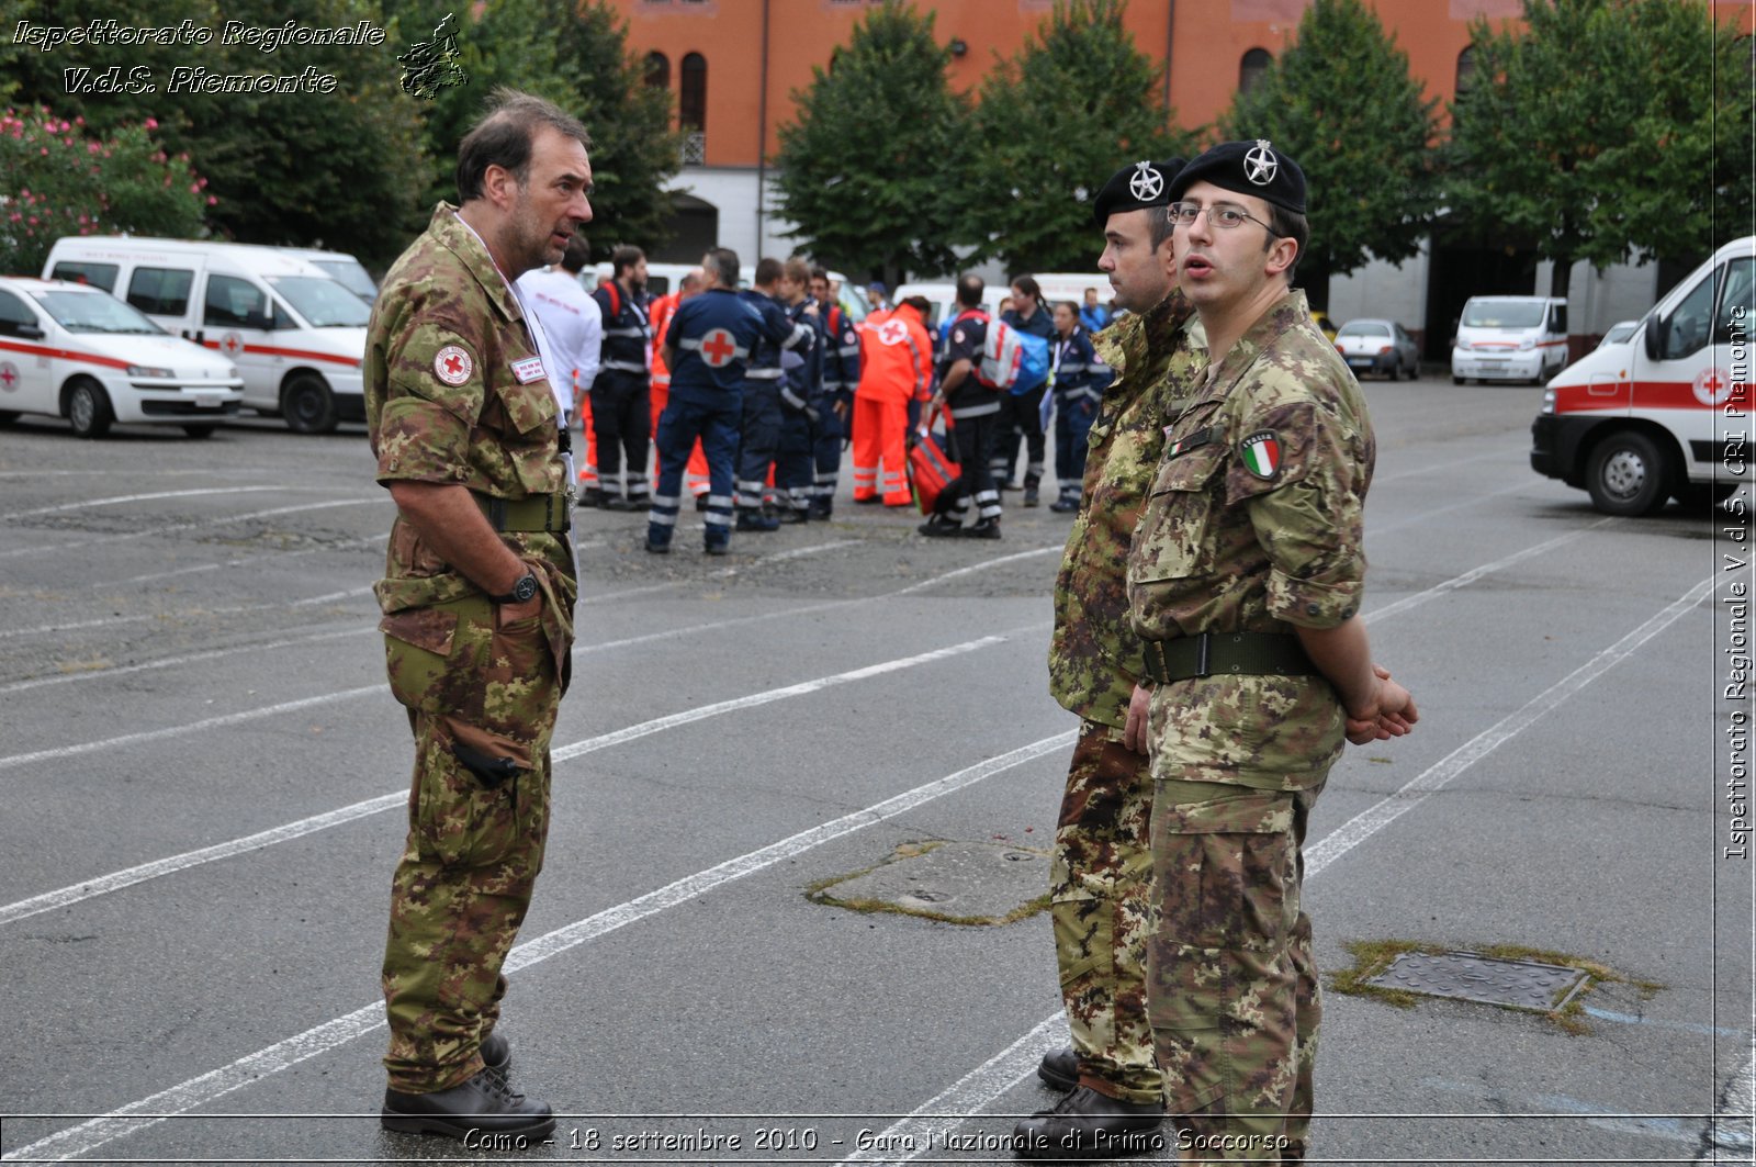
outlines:
[{"label": "man in camouflage and beret, half hidden behind man with glasses", "polygon": [[1147,1023],[1152,779],[1138,726],[1124,740],[1129,698],[1145,666],[1140,638],[1127,627],[1122,566],[1164,445],[1161,425],[1206,366],[1201,325],[1171,276],[1164,206],[1182,165],[1182,158],[1133,162],[1092,204],[1105,234],[1098,267],[1129,315],[1094,339],[1115,380],[1090,429],[1083,506],[1055,580],[1048,691],[1082,719],[1050,877],[1073,1047],[1047,1055],[1038,1074],[1071,1093],[1018,1125],[1017,1148],[1026,1156],[1108,1158],[1147,1149],[1138,1135],[1164,1114]]}]

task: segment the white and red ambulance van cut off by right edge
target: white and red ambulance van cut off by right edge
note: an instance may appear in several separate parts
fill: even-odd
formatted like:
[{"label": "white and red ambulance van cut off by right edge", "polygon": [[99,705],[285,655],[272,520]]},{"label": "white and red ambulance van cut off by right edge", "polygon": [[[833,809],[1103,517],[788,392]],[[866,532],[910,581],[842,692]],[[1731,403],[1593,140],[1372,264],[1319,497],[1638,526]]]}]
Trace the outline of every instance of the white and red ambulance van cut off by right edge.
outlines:
[{"label": "white and red ambulance van cut off by right edge", "polygon": [[1607,515],[1675,497],[1707,506],[1749,482],[1756,236],[1728,243],[1661,299],[1623,344],[1549,381],[1531,469],[1591,492]]}]

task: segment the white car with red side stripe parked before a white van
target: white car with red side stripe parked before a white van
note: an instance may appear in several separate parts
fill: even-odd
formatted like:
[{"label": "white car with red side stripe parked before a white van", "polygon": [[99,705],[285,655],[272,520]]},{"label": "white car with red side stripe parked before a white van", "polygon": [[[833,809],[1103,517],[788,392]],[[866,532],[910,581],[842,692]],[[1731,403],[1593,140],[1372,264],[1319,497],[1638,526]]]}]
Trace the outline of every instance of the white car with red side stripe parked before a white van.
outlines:
[{"label": "white car with red side stripe parked before a white van", "polygon": [[207,438],[244,399],[237,367],[170,336],[102,288],[0,276],[0,425],[65,417],[81,438],[116,422]]}]

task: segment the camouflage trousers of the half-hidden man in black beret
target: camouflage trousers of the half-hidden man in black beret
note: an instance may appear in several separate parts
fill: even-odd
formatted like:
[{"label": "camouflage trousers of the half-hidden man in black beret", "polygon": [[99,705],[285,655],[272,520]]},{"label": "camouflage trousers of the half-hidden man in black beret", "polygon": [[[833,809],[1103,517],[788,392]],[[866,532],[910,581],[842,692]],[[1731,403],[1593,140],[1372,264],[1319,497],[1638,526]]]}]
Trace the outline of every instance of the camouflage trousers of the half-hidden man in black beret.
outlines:
[{"label": "camouflage trousers of the half-hidden man in black beret", "polygon": [[1050,873],[1055,960],[1080,1084],[1129,1102],[1164,1097],[1147,1021],[1150,815],[1145,754],[1124,747],[1120,729],[1083,722]]}]

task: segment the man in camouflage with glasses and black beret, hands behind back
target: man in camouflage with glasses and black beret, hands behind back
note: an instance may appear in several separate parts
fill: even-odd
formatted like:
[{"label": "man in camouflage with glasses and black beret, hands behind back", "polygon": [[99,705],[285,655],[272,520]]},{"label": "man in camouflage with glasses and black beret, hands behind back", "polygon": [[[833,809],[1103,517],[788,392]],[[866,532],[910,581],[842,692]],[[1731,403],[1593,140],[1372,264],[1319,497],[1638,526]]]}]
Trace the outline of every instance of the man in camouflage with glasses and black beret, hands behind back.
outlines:
[{"label": "man in camouflage with glasses and black beret, hands behind back", "polygon": [[1145,638],[1159,921],[1148,1016],[1187,1162],[1301,1162],[1317,970],[1305,826],[1343,736],[1407,733],[1359,603],[1366,404],[1291,286],[1305,176],[1226,142],[1171,183],[1177,274],[1210,369],[1166,418],[1127,562]]}]

